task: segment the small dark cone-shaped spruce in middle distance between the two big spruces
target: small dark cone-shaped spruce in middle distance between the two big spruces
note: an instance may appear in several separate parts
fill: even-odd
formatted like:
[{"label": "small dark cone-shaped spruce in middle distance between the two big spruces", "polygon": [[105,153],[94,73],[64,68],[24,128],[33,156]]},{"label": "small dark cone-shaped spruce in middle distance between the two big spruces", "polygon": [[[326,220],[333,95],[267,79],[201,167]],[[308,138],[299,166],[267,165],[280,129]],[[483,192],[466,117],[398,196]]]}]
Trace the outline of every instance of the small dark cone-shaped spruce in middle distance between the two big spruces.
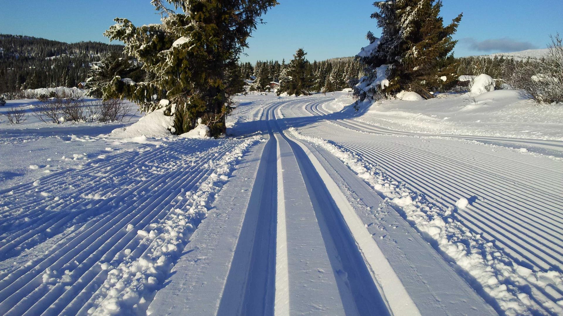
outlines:
[{"label": "small dark cone-shaped spruce in middle distance between the two big spruces", "polygon": [[313,85],[312,67],[305,55],[307,53],[303,51],[303,48],[297,49],[293,55],[293,59],[289,62],[287,70],[280,80],[278,96],[282,93],[287,93],[289,96],[311,95],[309,91]]}]

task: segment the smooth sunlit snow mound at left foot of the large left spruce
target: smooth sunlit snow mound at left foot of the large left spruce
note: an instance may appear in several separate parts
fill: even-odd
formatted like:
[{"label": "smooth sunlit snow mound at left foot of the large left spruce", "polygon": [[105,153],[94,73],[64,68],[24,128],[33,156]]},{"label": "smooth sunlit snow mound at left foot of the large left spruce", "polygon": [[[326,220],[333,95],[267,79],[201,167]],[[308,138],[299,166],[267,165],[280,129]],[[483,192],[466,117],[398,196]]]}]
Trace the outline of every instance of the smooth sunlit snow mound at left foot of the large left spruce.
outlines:
[{"label": "smooth sunlit snow mound at left foot of the large left spruce", "polygon": [[[173,128],[174,118],[164,115],[165,110],[166,109],[155,110],[129,127],[114,129],[108,137],[136,142],[146,141],[147,137],[169,137],[172,134],[170,131]],[[133,138],[136,140],[133,140]]]}]

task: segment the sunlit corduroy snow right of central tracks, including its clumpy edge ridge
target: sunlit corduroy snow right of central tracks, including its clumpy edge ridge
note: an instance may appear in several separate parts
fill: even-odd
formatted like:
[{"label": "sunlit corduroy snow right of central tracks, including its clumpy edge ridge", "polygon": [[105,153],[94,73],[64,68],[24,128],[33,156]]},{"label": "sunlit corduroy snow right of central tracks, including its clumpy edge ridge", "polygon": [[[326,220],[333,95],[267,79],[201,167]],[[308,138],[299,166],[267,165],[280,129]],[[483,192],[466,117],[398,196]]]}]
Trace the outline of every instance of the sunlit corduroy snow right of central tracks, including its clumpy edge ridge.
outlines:
[{"label": "sunlit corduroy snow right of central tracks, including its clumpy edge ridge", "polygon": [[321,101],[281,108],[297,137],[365,179],[497,312],[563,313],[560,161],[451,138],[384,135],[324,112]]}]

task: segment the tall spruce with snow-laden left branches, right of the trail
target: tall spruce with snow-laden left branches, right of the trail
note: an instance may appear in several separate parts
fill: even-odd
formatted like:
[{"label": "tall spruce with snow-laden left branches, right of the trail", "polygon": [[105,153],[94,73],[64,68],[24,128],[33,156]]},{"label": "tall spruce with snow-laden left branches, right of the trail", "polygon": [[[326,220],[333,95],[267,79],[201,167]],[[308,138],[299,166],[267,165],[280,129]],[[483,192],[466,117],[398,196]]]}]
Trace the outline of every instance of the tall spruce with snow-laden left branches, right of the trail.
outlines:
[{"label": "tall spruce with snow-laden left branches, right of the trail", "polygon": [[387,96],[406,90],[431,98],[431,91],[449,87],[458,79],[451,52],[452,35],[462,14],[444,26],[440,0],[388,0],[374,3],[372,14],[382,29],[381,38],[368,32],[369,45],[356,56],[364,76],[354,87],[360,100],[382,90]]}]

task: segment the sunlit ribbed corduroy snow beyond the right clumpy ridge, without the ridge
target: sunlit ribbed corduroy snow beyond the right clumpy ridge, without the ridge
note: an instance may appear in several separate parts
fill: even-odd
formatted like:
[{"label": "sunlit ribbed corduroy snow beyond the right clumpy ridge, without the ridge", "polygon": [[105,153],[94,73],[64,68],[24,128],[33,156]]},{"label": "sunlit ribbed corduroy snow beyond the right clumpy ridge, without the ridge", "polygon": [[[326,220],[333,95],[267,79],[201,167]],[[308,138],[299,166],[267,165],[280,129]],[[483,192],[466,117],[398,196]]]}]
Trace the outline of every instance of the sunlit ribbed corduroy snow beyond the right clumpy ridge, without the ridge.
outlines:
[{"label": "sunlit ribbed corduroy snow beyond the right clumpy ridge, without the ridge", "polygon": [[[284,106],[283,109],[287,109],[284,115],[289,118],[296,116],[296,120],[302,120],[298,128],[301,134],[329,139],[333,145],[361,156],[363,160],[400,183],[405,183],[413,191],[423,193],[435,204],[449,207],[458,197],[478,196],[467,209],[456,210],[454,216],[472,231],[486,232],[486,238],[495,240],[508,256],[520,264],[530,265],[536,270],[561,272],[563,183],[557,181],[563,178],[560,163],[544,160],[538,164],[537,157],[506,151],[479,155],[491,152],[482,149],[482,146],[476,146],[477,150],[481,150],[480,153],[475,152],[476,156],[479,155],[479,161],[475,161],[470,159],[471,155],[457,154],[464,150],[463,146],[467,143],[440,143],[440,139],[444,137],[510,141],[511,144],[521,142],[522,145],[529,139],[382,132],[378,127],[365,123],[354,124],[358,122],[351,122],[349,119],[323,118],[330,114],[320,110],[322,103],[324,102],[303,102],[293,107]],[[298,114],[293,114],[292,111]],[[311,115],[316,117],[311,118]],[[337,124],[338,130],[334,130],[333,124],[318,124],[319,117]],[[397,142],[390,139],[393,136],[406,138],[404,142]],[[428,136],[436,138],[436,141],[428,139]],[[428,141],[433,142],[432,149],[425,146]],[[533,141],[561,150],[561,142]],[[440,149],[437,150],[438,148]],[[531,165],[534,168],[529,168]],[[538,299],[557,304],[546,289],[534,283],[530,283],[530,286],[531,292]],[[552,285],[551,288],[558,295],[563,295],[563,285]],[[545,309],[544,312],[552,313],[538,300],[536,303]]]}]

